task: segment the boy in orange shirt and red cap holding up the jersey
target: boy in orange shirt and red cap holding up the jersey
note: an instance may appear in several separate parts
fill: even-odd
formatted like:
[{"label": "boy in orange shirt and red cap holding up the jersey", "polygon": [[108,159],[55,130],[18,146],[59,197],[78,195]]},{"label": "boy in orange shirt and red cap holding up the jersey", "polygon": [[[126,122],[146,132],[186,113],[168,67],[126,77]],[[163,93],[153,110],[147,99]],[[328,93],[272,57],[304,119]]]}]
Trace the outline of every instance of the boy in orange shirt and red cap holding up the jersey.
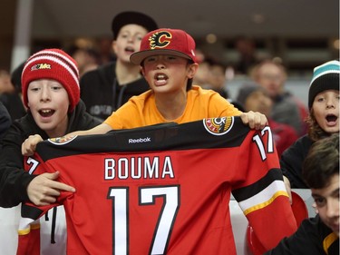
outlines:
[{"label": "boy in orange shirt and red cap holding up the jersey", "polygon": [[[242,113],[219,93],[192,85],[199,64],[195,41],[183,30],[161,28],[146,34],[141,41],[141,50],[131,54],[131,63],[141,65],[141,73],[151,90],[132,97],[104,123],[73,134],[100,134],[112,129],[238,115],[250,128],[261,129],[267,124],[264,114]],[[23,152],[32,153],[39,141],[36,137],[25,142]]]}]

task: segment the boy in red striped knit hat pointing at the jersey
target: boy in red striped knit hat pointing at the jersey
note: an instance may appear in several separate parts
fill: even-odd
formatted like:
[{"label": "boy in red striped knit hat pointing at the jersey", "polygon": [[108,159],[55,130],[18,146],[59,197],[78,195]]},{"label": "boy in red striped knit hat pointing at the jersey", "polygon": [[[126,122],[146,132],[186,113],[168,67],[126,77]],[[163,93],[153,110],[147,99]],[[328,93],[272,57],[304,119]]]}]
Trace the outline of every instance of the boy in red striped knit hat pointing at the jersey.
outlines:
[{"label": "boy in red striped knit hat pointing at the jersey", "polygon": [[[30,175],[24,172],[24,156],[21,146],[26,138],[38,134],[44,139],[64,135],[67,132],[86,130],[100,122],[85,112],[80,101],[78,67],[73,58],[59,49],[45,49],[33,54],[24,64],[22,91],[24,105],[28,108],[24,117],[15,120],[3,139],[0,155],[0,206],[14,207],[31,201],[35,205],[49,204],[61,191],[74,191],[56,181],[58,173]],[[51,214],[52,215],[52,214]],[[45,223],[42,221],[42,223]],[[58,221],[57,224],[60,224]],[[55,230],[56,244],[42,242],[48,250],[65,249],[65,226]]]}]

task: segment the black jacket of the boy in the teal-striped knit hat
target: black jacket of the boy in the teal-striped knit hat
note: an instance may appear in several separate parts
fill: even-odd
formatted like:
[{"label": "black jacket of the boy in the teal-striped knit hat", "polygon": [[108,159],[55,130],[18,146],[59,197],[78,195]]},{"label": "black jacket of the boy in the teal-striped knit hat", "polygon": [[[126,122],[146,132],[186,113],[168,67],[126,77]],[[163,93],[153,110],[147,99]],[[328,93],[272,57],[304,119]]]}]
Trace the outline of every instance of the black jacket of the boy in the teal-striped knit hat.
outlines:
[{"label": "black jacket of the boy in the teal-striped knit hat", "polygon": [[309,189],[302,178],[302,165],[313,141],[304,135],[296,140],[280,158],[282,173],[287,176],[292,188]]}]

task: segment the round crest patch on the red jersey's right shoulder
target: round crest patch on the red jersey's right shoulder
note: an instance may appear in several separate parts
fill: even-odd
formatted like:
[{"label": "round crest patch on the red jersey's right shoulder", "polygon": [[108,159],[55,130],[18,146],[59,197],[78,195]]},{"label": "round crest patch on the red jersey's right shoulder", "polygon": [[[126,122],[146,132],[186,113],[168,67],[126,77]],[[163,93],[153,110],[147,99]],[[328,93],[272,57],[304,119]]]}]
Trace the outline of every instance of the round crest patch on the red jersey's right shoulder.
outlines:
[{"label": "round crest patch on the red jersey's right shoulder", "polygon": [[223,135],[233,126],[234,117],[209,118],[203,120],[203,125],[208,132],[214,135]]}]

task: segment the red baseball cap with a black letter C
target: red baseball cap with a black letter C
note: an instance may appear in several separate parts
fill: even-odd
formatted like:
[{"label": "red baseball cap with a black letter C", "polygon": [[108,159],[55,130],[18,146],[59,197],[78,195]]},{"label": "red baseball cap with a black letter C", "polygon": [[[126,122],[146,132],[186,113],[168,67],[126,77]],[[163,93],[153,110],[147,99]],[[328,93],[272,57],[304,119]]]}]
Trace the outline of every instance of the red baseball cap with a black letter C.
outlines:
[{"label": "red baseball cap with a black letter C", "polygon": [[139,52],[131,54],[132,64],[141,64],[151,55],[170,54],[192,60],[197,63],[195,41],[185,31],[180,29],[160,28],[146,34],[141,40]]}]

